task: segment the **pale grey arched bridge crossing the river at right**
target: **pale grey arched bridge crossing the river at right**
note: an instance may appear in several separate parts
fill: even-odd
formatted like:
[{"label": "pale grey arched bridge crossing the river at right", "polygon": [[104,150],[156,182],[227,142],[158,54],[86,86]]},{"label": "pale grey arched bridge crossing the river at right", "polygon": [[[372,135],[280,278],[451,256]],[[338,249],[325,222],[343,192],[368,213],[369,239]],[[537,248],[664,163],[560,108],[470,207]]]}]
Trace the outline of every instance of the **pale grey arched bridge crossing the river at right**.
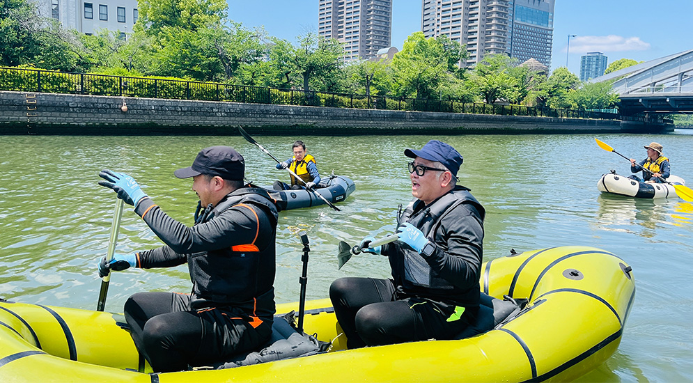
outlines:
[{"label": "pale grey arched bridge crossing the river at right", "polygon": [[590,80],[602,81],[614,81],[624,116],[693,113],[693,49]]}]

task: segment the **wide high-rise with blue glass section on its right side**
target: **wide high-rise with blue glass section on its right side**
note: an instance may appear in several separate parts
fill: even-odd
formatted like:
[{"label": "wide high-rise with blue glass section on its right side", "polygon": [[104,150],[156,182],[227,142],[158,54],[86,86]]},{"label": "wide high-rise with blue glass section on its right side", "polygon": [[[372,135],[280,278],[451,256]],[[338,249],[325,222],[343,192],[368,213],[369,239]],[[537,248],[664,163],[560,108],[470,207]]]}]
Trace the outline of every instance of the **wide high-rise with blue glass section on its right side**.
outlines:
[{"label": "wide high-rise with blue glass section on its right side", "polygon": [[467,45],[467,65],[485,54],[551,65],[555,0],[423,0],[421,31]]}]

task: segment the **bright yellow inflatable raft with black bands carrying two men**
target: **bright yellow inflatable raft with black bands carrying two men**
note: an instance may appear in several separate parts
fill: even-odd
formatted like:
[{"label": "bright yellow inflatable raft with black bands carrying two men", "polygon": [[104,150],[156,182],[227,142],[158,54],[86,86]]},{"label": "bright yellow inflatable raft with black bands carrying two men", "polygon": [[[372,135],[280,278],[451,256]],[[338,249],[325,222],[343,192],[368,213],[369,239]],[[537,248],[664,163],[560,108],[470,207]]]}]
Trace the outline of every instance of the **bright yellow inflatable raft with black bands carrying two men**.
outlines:
[{"label": "bright yellow inflatable raft with black bands carrying two men", "polygon": [[[0,302],[0,382],[568,381],[618,347],[634,301],[627,263],[591,247],[511,254],[483,265],[483,291],[529,299],[484,334],[345,350],[328,299],[307,302],[306,333],[328,352],[223,370],[148,373],[122,316]],[[296,310],[279,305],[277,312]]]}]

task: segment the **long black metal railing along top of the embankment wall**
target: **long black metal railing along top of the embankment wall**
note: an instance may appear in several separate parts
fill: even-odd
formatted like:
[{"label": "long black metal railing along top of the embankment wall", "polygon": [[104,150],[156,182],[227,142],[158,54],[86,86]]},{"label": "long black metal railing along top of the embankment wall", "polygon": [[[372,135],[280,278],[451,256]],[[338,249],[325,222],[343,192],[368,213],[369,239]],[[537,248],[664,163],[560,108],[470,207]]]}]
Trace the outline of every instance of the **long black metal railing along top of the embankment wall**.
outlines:
[{"label": "long black metal railing along top of the embankment wall", "polygon": [[201,81],[93,75],[88,73],[3,67],[0,67],[0,90],[287,104],[311,107],[439,111],[501,116],[623,119],[623,116],[619,114],[577,109],[524,107],[522,105],[485,104],[482,102],[460,102],[455,100],[426,100],[387,95],[369,97],[348,93],[302,91],[300,89],[279,89]]}]

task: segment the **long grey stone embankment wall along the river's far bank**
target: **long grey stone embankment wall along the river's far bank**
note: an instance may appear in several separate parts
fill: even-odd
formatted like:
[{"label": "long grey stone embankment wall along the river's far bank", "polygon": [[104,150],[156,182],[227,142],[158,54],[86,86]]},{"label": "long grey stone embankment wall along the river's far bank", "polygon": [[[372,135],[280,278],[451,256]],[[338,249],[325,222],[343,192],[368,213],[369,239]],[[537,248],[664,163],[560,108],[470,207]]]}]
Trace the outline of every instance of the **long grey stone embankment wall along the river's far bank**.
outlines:
[{"label": "long grey stone embankment wall along the river's far bank", "polygon": [[[126,108],[123,108],[125,106]],[[0,134],[517,134],[662,132],[619,120],[488,116],[0,91]]]}]

